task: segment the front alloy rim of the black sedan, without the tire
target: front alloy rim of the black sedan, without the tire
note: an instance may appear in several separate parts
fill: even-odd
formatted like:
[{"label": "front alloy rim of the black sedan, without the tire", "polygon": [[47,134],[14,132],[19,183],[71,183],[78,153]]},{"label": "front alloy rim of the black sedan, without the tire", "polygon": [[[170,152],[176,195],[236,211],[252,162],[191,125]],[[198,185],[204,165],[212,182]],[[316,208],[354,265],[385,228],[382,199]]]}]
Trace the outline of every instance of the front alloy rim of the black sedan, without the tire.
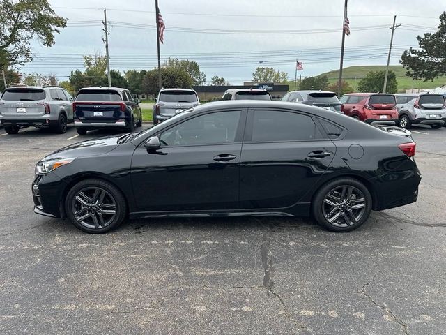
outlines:
[{"label": "front alloy rim of the black sedan, without the tire", "polygon": [[105,189],[89,186],[76,193],[71,210],[80,225],[89,229],[101,229],[114,220],[116,200]]}]

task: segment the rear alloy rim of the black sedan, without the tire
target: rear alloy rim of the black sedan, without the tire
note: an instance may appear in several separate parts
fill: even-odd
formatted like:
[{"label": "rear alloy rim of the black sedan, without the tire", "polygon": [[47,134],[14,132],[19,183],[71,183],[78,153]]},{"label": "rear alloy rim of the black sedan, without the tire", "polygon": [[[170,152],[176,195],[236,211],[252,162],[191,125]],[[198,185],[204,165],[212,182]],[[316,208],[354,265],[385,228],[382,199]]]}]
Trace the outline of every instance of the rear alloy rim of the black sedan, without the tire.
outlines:
[{"label": "rear alloy rim of the black sedan, without the tire", "polygon": [[325,195],[323,216],[331,225],[354,225],[366,211],[366,199],[359,188],[350,185],[337,186]]}]

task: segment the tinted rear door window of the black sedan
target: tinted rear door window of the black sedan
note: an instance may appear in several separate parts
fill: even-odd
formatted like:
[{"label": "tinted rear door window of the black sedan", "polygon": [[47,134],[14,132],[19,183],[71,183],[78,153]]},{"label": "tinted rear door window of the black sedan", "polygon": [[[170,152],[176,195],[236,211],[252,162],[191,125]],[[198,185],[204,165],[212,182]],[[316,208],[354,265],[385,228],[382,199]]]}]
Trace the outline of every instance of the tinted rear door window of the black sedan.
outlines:
[{"label": "tinted rear door window of the black sedan", "polygon": [[318,137],[311,117],[277,110],[255,110],[252,120],[253,142],[313,140]]}]

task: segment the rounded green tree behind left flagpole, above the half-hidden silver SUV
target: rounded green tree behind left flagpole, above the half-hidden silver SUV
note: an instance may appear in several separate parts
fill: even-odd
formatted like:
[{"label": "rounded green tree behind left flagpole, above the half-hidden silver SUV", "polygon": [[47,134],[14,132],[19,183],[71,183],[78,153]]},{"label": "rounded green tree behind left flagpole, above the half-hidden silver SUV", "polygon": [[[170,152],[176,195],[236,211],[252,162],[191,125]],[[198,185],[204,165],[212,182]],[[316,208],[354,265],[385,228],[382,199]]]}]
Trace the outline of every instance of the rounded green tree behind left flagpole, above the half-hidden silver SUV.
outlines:
[{"label": "rounded green tree behind left flagpole, above the half-hidden silver SUV", "polygon": [[[175,69],[175,68],[161,68],[161,80],[162,87],[164,89],[176,88],[176,87],[192,87],[193,80],[189,73],[185,70]],[[154,68],[153,70],[147,71],[144,76],[142,89],[146,94],[157,94],[158,93],[158,70]]]}]

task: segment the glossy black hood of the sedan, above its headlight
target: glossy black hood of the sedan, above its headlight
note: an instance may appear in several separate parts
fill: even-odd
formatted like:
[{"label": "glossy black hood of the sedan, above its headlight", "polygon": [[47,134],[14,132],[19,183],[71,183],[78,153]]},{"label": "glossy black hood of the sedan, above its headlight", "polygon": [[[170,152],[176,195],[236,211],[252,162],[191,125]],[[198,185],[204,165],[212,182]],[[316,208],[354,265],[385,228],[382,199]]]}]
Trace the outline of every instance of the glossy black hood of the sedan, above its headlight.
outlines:
[{"label": "glossy black hood of the sedan, above its headlight", "polygon": [[86,140],[83,142],[77,142],[75,144],[70,144],[68,147],[63,147],[59,150],[54,151],[49,154],[41,161],[51,161],[54,159],[63,158],[79,158],[87,156],[100,156],[107,154],[107,152],[116,149],[121,144],[118,144],[118,136],[100,137],[94,140]]}]

